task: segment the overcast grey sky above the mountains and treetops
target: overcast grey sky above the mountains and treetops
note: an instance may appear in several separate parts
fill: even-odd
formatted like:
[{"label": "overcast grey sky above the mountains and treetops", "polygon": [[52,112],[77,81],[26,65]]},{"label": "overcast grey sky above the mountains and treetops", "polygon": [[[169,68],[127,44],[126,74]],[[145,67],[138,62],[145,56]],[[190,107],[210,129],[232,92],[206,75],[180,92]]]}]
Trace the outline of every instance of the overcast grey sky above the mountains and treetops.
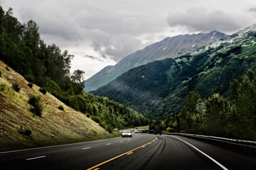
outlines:
[{"label": "overcast grey sky above the mountains and treetops", "polygon": [[21,23],[35,21],[41,39],[75,55],[85,79],[154,42],[256,23],[256,0],[0,0]]}]

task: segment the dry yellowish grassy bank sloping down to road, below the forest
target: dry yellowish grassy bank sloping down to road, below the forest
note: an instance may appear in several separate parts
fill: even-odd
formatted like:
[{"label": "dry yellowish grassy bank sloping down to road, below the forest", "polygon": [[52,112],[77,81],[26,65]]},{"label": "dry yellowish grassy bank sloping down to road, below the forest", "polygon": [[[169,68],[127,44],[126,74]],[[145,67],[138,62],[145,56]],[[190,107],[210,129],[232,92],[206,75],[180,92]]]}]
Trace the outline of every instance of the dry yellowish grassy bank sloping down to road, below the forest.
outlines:
[{"label": "dry yellowish grassy bank sloping down to road, below the forest", "polygon": [[[30,88],[28,81],[2,61],[0,75],[0,150],[111,136],[85,114],[69,108],[48,92],[42,94],[38,86]],[[19,92],[12,89],[15,82],[20,87]],[[32,106],[28,100],[34,94],[41,96],[41,117],[30,111]],[[64,106],[64,111],[58,108],[60,105]],[[28,129],[32,130],[30,136],[22,133]]]}]

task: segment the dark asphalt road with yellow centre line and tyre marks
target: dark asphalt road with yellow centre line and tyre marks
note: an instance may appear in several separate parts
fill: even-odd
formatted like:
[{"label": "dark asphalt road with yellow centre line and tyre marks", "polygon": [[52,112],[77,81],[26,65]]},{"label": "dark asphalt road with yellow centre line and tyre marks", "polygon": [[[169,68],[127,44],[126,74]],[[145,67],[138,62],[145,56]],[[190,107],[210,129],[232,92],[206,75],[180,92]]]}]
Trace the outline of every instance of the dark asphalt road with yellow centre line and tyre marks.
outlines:
[{"label": "dark asphalt road with yellow centre line and tyre marks", "polygon": [[0,151],[1,170],[255,170],[256,157],[181,136],[134,134]]}]

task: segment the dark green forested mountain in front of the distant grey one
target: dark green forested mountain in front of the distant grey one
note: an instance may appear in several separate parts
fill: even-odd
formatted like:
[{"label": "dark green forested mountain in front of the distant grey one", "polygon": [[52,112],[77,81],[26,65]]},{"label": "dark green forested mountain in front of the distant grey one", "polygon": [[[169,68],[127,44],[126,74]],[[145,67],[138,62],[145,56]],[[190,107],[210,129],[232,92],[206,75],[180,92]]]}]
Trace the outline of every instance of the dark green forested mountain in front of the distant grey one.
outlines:
[{"label": "dark green forested mountain in front of the distant grey one", "polygon": [[230,83],[249,69],[256,73],[256,24],[175,59],[133,68],[93,94],[131,106],[144,116],[177,113],[189,91],[202,98],[229,97]]}]

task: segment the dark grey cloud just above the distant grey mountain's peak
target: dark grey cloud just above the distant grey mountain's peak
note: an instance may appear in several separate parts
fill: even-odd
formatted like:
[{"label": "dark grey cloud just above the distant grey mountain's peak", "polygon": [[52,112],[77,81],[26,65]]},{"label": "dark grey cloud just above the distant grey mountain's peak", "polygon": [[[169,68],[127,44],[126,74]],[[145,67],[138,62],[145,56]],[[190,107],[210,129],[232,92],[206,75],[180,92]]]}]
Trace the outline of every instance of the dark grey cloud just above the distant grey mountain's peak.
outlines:
[{"label": "dark grey cloud just above the distant grey mountain's peak", "polygon": [[182,26],[189,31],[237,31],[246,26],[247,18],[239,13],[228,13],[221,10],[207,10],[204,7],[191,7],[186,12],[169,14],[167,23],[171,27]]}]

